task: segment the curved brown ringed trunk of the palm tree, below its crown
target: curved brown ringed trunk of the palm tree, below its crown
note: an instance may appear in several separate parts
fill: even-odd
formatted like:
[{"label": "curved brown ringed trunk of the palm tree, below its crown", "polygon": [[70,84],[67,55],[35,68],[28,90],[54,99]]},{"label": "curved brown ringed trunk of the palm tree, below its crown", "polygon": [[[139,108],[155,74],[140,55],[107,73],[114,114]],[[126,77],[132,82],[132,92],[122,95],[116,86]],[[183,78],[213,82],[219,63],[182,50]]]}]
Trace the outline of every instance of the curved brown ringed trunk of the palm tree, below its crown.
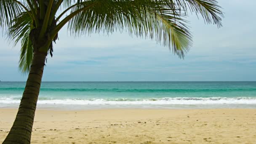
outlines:
[{"label": "curved brown ringed trunk of the palm tree, below its crown", "polygon": [[3,144],[30,144],[46,55],[38,51],[34,52],[32,65],[16,119]]}]

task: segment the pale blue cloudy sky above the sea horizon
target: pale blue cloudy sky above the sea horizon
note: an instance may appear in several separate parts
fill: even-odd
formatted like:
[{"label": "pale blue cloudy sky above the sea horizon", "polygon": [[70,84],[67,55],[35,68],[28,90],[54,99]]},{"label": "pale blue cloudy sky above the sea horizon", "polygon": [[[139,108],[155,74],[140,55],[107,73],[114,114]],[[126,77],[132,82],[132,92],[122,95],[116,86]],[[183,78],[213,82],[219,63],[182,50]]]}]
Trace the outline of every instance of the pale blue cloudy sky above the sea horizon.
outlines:
[{"label": "pale blue cloudy sky above the sea horizon", "polygon": [[[255,0],[218,0],[223,27],[189,16],[193,46],[179,59],[160,43],[127,33],[73,37],[59,33],[43,81],[256,81]],[[0,80],[26,81],[20,45],[0,37]]]}]

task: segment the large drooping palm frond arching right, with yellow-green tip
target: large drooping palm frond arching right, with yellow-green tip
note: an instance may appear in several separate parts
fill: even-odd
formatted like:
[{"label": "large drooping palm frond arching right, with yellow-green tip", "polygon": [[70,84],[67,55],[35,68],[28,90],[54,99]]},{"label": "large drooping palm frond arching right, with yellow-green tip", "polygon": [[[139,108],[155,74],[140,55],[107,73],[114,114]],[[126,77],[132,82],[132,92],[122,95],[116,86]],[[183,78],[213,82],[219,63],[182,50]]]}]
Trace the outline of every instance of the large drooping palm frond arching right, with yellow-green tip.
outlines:
[{"label": "large drooping palm frond arching right, with yellow-green tip", "polygon": [[[192,36],[184,20],[183,13],[173,11],[165,2],[154,0],[94,0],[95,5],[81,11],[71,21],[68,28],[75,35],[94,32],[112,33],[128,30],[138,37],[155,37],[184,57],[192,46]],[[72,12],[92,3],[86,1],[77,5]]]}]

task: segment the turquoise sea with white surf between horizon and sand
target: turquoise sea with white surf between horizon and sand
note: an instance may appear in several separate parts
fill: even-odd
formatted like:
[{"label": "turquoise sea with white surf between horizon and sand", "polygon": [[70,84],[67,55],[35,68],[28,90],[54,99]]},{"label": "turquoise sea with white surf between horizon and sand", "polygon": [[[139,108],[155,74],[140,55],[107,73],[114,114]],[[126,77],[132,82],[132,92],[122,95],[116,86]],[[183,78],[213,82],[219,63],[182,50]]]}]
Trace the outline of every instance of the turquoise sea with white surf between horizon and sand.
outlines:
[{"label": "turquoise sea with white surf between horizon and sand", "polygon": [[[18,108],[25,82],[0,82],[0,108]],[[42,82],[39,109],[256,108],[256,82]]]}]

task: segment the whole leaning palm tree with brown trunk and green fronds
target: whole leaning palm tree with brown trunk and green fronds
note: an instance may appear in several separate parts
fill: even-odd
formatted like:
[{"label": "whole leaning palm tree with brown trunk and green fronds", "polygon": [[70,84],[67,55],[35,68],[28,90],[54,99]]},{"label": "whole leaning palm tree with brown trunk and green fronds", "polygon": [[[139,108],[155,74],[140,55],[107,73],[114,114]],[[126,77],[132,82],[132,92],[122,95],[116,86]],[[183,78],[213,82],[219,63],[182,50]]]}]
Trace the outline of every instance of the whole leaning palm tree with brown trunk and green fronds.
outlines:
[{"label": "whole leaning palm tree with brown trunk and green fronds", "polygon": [[221,27],[216,0],[0,0],[0,28],[21,43],[19,68],[28,73],[16,119],[3,144],[29,144],[45,60],[67,24],[74,35],[128,31],[168,46],[180,58],[192,46],[185,18],[201,15]]}]

